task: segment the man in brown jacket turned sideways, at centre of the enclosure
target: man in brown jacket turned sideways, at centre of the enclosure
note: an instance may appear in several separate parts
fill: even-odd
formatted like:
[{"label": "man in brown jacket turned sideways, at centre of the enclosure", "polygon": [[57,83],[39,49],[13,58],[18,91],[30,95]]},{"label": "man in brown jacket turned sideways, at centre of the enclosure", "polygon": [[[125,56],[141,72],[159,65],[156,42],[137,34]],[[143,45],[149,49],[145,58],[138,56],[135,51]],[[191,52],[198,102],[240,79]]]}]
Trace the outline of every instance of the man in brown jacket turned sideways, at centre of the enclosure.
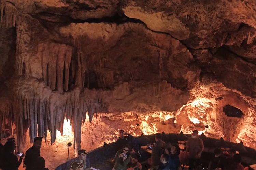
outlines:
[{"label": "man in brown jacket turned sideways, at centre of the enclosure", "polygon": [[162,141],[162,135],[157,133],[155,135],[156,144],[152,149],[151,158],[148,158],[148,164],[153,168],[158,169],[160,164],[160,157],[166,148],[166,143]]}]

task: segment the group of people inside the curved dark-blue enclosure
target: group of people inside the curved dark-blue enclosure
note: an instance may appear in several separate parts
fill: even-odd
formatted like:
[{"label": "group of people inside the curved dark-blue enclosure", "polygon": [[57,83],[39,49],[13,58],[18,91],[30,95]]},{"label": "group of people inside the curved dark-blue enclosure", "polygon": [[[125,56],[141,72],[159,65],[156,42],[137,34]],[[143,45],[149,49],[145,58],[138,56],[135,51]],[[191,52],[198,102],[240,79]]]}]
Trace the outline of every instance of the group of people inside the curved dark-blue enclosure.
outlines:
[{"label": "group of people inside the curved dark-blue enclosure", "polygon": [[[126,135],[126,136],[125,136]],[[136,145],[132,142],[134,137],[124,130],[119,131],[119,138],[117,140],[117,146],[123,146],[118,150],[115,155],[115,165],[112,170],[141,170],[141,164],[134,158],[134,156],[141,155],[139,150],[136,150]],[[165,143],[161,139],[161,134],[155,134],[155,144],[148,144],[148,147],[152,149],[151,158],[148,158],[147,163],[151,167],[149,170],[177,170],[180,166],[180,148],[178,145],[171,145]],[[151,146],[151,147],[150,147]],[[135,149],[136,148],[136,149]],[[198,131],[194,130],[191,137],[186,143],[184,148],[185,159],[188,160],[189,170],[201,170],[201,153],[204,150],[203,140],[198,137]],[[136,154],[138,153],[138,154]],[[135,159],[135,160],[134,160]],[[136,166],[127,168],[128,164]],[[223,156],[220,148],[215,148],[214,155],[209,163],[209,170],[244,170],[241,164],[241,156],[236,154],[233,149],[229,150],[228,156]]]}]

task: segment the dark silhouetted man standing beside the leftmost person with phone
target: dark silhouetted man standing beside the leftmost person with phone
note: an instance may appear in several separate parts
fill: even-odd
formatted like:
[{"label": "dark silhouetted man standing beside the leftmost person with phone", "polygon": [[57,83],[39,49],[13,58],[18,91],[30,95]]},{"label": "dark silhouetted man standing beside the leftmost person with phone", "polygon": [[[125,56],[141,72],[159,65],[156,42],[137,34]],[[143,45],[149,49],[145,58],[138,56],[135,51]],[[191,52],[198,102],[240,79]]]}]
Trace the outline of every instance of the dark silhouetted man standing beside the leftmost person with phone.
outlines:
[{"label": "dark silhouetted man standing beside the leftmost person with phone", "polygon": [[40,157],[41,145],[42,138],[35,137],[34,145],[30,147],[25,154],[24,164],[26,165],[26,170],[33,170],[35,168],[35,162]]}]

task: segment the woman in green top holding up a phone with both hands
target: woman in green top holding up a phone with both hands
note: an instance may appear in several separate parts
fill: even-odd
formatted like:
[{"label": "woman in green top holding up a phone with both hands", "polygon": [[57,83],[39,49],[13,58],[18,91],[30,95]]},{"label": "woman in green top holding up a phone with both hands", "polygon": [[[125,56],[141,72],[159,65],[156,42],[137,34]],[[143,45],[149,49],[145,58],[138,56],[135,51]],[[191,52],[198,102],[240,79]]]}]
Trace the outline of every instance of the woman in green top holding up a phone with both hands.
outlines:
[{"label": "woman in green top holding up a phone with both hands", "polygon": [[112,170],[126,170],[128,163],[131,161],[129,146],[124,145],[122,150],[117,151],[115,155],[115,165]]}]

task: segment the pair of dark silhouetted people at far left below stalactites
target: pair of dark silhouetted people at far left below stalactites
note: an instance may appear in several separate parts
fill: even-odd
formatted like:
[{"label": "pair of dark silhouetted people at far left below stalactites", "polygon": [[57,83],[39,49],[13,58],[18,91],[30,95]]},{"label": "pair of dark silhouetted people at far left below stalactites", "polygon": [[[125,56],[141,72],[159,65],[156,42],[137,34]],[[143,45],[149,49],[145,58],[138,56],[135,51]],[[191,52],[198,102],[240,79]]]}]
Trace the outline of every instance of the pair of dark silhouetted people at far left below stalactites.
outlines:
[{"label": "pair of dark silhouetted people at far left below stalactites", "polygon": [[15,154],[15,138],[7,139],[7,142],[0,146],[0,169],[18,170],[20,164],[22,163],[23,157],[25,156],[23,163],[26,170],[48,170],[48,168],[45,168],[44,158],[40,156],[41,144],[42,138],[35,137],[34,145],[27,150],[25,156],[24,153]]}]

